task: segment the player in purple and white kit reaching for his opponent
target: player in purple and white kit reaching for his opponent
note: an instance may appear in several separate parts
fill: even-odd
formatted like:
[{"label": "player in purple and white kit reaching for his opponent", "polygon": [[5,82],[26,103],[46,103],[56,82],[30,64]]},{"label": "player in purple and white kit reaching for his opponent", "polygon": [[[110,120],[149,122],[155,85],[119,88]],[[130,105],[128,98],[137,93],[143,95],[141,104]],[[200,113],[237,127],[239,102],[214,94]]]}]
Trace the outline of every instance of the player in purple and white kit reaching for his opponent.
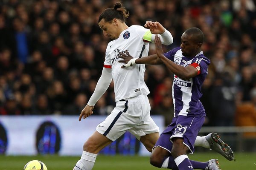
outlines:
[{"label": "player in purple and white kit reaching for his opponent", "polygon": [[[127,63],[122,68],[135,64],[165,64],[174,74],[172,96],[175,116],[153,147],[150,163],[156,167],[172,170],[219,170],[217,159],[198,162],[189,160],[186,155],[193,153],[195,141],[201,140],[196,138],[206,116],[199,100],[202,96],[201,86],[208,74],[210,64],[210,60],[201,51],[203,42],[203,32],[199,28],[189,28],[181,36],[180,47],[163,54],[160,39],[156,35],[156,54],[144,58],[133,58],[127,53],[122,54],[123,60],[119,61]],[[222,142],[216,133],[210,133],[202,140],[205,139],[208,142],[209,139],[212,143],[216,142],[219,148],[215,147],[214,150],[228,160],[233,160],[231,148]]]}]

